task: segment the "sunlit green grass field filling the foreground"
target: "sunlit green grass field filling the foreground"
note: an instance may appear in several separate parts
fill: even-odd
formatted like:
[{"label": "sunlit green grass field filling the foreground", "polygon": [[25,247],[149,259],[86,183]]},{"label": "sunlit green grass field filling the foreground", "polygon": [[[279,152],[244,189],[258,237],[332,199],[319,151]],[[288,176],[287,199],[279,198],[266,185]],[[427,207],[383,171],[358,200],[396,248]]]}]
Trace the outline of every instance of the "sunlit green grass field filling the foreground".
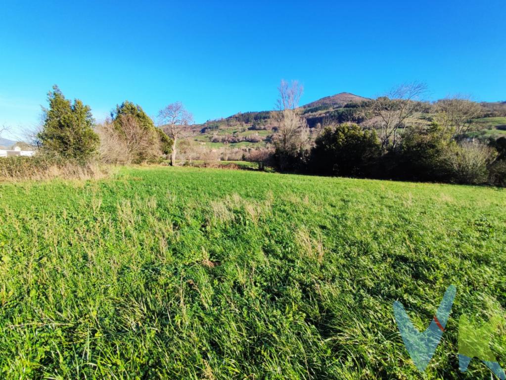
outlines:
[{"label": "sunlit green grass field filling the foreground", "polygon": [[[147,167],[0,210],[2,379],[490,378],[458,316],[504,315],[504,190]],[[392,302],[425,329],[449,284],[421,375]]]}]

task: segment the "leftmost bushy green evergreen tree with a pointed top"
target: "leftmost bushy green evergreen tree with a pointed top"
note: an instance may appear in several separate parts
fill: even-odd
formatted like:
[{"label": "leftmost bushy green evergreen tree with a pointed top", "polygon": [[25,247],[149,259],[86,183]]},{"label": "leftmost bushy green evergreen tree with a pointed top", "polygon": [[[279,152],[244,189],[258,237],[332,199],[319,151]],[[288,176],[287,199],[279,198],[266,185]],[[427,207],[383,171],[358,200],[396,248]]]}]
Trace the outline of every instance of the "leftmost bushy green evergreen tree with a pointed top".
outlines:
[{"label": "leftmost bushy green evergreen tree with a pointed top", "polygon": [[36,136],[38,145],[48,153],[85,161],[96,151],[99,137],[93,131],[89,106],[80,100],[65,99],[58,86],[48,94],[49,109],[44,109],[43,130]]}]

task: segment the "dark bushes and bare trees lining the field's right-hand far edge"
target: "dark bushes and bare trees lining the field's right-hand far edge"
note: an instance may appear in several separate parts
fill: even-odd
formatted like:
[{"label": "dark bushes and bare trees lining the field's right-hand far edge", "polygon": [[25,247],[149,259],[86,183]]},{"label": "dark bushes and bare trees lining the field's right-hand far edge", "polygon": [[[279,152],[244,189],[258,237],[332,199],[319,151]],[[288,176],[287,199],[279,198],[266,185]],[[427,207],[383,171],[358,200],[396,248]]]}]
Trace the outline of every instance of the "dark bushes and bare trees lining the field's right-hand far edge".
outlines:
[{"label": "dark bushes and bare trees lining the field's right-hand far edge", "polygon": [[[262,155],[264,164],[328,176],[505,186],[506,138],[489,144],[467,138],[482,106],[461,97],[428,105],[420,101],[426,91],[421,83],[399,86],[350,107],[360,113],[360,125],[324,120],[310,131],[298,107],[302,86],[283,80],[274,150]],[[421,118],[428,107],[431,116]]]}]

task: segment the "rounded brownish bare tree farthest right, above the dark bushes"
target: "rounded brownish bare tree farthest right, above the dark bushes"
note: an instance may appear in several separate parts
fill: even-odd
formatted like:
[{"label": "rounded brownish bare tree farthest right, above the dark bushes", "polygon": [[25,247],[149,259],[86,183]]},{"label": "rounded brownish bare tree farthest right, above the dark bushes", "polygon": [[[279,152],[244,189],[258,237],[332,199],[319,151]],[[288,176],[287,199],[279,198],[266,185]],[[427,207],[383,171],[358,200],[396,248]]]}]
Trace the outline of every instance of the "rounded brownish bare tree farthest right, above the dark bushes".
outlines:
[{"label": "rounded brownish bare tree farthest right, above the dark bushes", "polygon": [[438,100],[434,104],[435,120],[450,132],[452,138],[462,136],[476,127],[475,119],[483,115],[483,107],[461,96]]}]

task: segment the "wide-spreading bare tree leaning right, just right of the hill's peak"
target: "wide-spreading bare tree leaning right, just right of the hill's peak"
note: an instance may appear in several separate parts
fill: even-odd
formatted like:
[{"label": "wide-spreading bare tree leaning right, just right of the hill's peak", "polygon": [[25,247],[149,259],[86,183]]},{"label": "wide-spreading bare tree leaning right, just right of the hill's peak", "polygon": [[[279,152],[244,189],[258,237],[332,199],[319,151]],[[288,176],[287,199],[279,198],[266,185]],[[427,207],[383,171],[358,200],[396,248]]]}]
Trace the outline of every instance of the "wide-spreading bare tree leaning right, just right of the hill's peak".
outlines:
[{"label": "wide-spreading bare tree leaning right, just right of the hill's peak", "polygon": [[383,151],[397,146],[406,130],[406,121],[418,112],[419,98],[426,91],[424,83],[406,83],[370,103],[369,113],[373,116],[370,121],[379,131]]}]

